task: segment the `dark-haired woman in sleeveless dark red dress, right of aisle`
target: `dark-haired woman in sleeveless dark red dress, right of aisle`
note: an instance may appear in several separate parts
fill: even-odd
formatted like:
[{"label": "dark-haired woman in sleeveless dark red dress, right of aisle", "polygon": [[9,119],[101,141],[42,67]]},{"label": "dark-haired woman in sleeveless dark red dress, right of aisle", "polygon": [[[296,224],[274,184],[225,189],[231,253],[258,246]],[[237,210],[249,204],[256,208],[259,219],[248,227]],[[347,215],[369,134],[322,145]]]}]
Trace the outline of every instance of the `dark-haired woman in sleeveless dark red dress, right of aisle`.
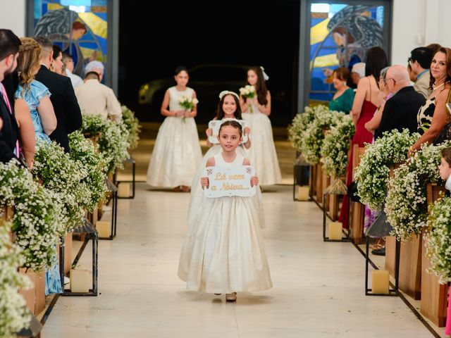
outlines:
[{"label": "dark-haired woman in sleeveless dark red dress, right of aisle", "polygon": [[[347,163],[346,185],[352,183],[352,156],[354,144],[364,146],[373,142],[373,134],[365,129],[365,123],[373,118],[378,106],[383,100],[383,92],[378,87],[377,80],[381,70],[388,66],[387,54],[381,47],[373,47],[366,53],[365,77],[359,80],[357,92],[352,104],[351,116],[354,121],[355,134],[352,137],[349,162]],[[339,221],[347,229],[349,218],[348,197],[344,196]]]}]

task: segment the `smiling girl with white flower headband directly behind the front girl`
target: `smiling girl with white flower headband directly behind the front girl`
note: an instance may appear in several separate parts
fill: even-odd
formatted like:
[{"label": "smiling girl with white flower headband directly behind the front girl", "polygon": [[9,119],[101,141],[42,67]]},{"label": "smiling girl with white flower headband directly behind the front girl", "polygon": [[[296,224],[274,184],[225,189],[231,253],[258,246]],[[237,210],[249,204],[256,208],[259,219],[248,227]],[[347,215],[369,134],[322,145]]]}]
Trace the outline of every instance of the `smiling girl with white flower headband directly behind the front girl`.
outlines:
[{"label": "smiling girl with white flower headband directly behind the front girl", "polygon": [[[242,120],[239,100],[240,100],[239,96],[235,92],[229,92],[227,90],[221,92],[221,94],[219,94],[218,111],[216,113],[216,117],[214,118],[214,120],[230,120],[230,119]],[[244,132],[245,134],[249,135],[251,130],[249,127],[245,127]],[[206,130],[205,133],[206,136],[209,137],[213,133],[213,130],[209,128]],[[191,185],[190,208],[188,209],[188,225],[190,227],[197,218],[197,215],[200,212],[202,212],[201,209],[202,200],[206,198],[202,191],[202,187],[199,184],[200,177],[204,172],[206,161],[208,161],[209,158],[215,156],[216,154],[221,153],[222,151],[221,146],[219,144],[211,144],[208,141],[208,138],[206,144],[207,146],[209,146],[210,149],[209,151],[206,152],[204,158],[202,159],[202,163],[197,168],[196,174],[194,175]],[[250,146],[251,142],[248,137],[247,142],[245,144],[240,144],[240,146],[237,147],[238,154],[245,156],[245,149],[249,149]],[[254,201],[258,208],[262,208],[260,192],[257,192],[256,197],[254,197]],[[263,215],[263,212],[261,212],[261,215]],[[261,216],[261,218],[262,218],[261,224],[264,224],[263,216]]]}]

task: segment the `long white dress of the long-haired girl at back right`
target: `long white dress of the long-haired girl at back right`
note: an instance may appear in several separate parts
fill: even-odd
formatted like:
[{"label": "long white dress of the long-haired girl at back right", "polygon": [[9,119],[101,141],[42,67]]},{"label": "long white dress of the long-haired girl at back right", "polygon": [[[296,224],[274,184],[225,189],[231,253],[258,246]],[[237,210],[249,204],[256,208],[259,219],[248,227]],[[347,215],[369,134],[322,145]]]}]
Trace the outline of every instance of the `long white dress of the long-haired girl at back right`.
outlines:
[{"label": "long white dress of the long-haired girl at back right", "polygon": [[243,120],[246,120],[252,130],[252,134],[249,135],[252,146],[247,149],[247,158],[257,170],[261,185],[278,184],[282,182],[282,175],[274,146],[271,120],[254,104],[252,109],[253,113],[250,113],[249,108],[242,113]]}]

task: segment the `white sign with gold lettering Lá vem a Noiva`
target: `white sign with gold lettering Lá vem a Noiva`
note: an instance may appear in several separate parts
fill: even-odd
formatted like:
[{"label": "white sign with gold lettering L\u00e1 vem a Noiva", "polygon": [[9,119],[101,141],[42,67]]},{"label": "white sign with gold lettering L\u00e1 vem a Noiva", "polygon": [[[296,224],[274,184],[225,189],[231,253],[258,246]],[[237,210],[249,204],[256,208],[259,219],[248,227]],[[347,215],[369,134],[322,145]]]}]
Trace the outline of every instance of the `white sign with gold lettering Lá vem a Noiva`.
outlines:
[{"label": "white sign with gold lettering L\u00e1 vem a Noiva", "polygon": [[252,176],[255,176],[255,168],[251,165],[230,168],[206,167],[202,177],[209,177],[209,188],[204,189],[204,194],[210,198],[254,196],[257,188],[251,187]]}]

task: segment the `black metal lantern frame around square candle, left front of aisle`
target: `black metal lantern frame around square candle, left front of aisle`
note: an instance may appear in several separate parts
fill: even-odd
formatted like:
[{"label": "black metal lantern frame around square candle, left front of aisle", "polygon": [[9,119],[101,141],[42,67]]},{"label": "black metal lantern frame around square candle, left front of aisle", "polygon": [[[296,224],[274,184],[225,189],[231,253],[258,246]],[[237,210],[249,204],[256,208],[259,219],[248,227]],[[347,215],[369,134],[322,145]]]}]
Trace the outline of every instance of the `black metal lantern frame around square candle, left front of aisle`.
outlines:
[{"label": "black metal lantern frame around square candle, left front of aisle", "polygon": [[[70,289],[64,288],[64,248],[60,247],[60,274],[61,274],[61,286],[63,287],[62,296],[97,296],[97,279],[99,274],[99,236],[97,230],[89,220],[85,219],[85,223],[82,223],[73,230],[74,234],[85,234],[85,239],[80,247],[80,250],[75,256],[72,266],[77,265],[80,257],[82,256],[85,247],[92,240],[92,289],[88,292],[71,292]],[[69,258],[70,259],[70,258]]]}]

